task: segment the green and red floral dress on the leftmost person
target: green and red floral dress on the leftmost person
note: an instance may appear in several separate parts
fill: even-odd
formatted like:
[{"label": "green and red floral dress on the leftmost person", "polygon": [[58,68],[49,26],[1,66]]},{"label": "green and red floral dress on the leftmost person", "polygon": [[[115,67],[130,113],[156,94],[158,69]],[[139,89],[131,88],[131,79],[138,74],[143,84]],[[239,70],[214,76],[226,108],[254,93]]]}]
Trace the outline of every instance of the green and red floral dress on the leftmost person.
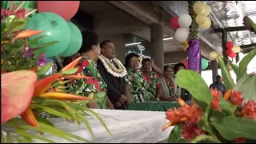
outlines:
[{"label": "green and red floral dress on the leftmost person", "polygon": [[83,56],[76,67],[79,68],[78,75],[92,77],[92,79],[79,79],[69,82],[68,92],[90,98],[96,93],[98,109],[106,109],[106,82],[99,74],[95,62]]}]

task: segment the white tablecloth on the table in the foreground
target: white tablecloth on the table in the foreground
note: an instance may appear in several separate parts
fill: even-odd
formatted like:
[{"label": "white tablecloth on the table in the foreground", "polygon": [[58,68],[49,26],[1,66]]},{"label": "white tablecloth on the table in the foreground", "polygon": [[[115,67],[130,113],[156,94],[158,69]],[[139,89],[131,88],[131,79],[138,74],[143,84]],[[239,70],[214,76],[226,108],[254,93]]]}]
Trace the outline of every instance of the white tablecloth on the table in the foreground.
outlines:
[{"label": "white tablecloth on the table in the foreground", "polygon": [[[60,118],[51,118],[50,121],[54,123],[54,126],[62,130],[96,143],[155,143],[168,138],[170,131],[173,129],[173,127],[170,127],[162,132],[162,126],[168,122],[164,112],[137,110],[94,111],[98,114],[103,114],[101,118],[106,123],[114,138],[110,137],[110,134],[108,134],[96,118],[88,118],[95,139],[92,138],[84,124],[78,126],[75,122],[67,122]],[[47,134],[45,134],[45,137],[59,143],[68,142],[65,139],[55,138]]]}]

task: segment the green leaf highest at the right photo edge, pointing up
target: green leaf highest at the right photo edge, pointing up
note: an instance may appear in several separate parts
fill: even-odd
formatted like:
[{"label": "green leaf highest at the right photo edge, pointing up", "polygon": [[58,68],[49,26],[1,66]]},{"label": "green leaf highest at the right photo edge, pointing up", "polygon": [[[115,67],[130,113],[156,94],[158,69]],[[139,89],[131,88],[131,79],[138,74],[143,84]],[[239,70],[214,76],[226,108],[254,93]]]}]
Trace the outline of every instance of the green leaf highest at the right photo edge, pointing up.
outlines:
[{"label": "green leaf highest at the right photo edge, pointing up", "polygon": [[255,55],[256,49],[253,49],[244,58],[242,58],[242,61],[239,63],[239,70],[241,76],[246,74],[247,66],[250,63],[250,61],[255,57]]}]

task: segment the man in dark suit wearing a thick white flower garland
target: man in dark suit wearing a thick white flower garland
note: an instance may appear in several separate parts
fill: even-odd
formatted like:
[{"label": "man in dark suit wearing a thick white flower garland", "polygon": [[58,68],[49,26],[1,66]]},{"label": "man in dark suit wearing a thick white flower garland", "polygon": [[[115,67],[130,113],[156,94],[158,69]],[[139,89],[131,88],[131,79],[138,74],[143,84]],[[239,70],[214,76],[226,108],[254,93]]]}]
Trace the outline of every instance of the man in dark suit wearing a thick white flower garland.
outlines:
[{"label": "man in dark suit wearing a thick white flower garland", "polygon": [[100,45],[102,55],[99,56],[97,65],[102,78],[107,83],[107,95],[117,110],[125,110],[130,104],[130,93],[126,91],[126,68],[122,62],[115,58],[115,46],[111,41],[104,41]]}]

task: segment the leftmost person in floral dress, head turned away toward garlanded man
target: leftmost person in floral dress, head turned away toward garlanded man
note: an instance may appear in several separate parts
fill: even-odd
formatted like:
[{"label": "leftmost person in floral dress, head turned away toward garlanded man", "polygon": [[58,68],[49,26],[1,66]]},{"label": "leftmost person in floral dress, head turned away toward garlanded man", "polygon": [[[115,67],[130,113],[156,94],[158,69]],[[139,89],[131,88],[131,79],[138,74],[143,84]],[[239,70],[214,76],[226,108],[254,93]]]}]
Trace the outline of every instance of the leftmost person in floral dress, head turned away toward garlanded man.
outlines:
[{"label": "leftmost person in floral dress, head turned away toward garlanded man", "polygon": [[98,102],[89,102],[88,107],[94,109],[112,108],[110,100],[106,96],[106,82],[98,72],[95,62],[97,61],[101,48],[98,42],[98,34],[92,31],[82,31],[82,47],[78,51],[82,59],[77,66],[78,75],[92,77],[92,79],[76,79],[68,83],[68,91],[72,94],[92,96],[98,98]]}]

